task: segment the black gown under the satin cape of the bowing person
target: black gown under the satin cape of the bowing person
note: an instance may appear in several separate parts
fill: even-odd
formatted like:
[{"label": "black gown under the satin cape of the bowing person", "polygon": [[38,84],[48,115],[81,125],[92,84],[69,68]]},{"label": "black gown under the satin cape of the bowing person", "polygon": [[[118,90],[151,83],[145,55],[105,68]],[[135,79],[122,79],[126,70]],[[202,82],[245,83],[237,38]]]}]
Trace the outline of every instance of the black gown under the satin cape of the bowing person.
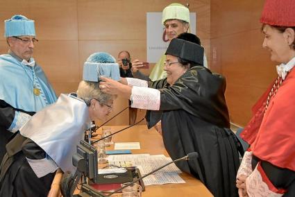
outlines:
[{"label": "black gown under the satin cape of the bowing person", "polygon": [[31,139],[19,133],[8,143],[0,169],[0,196],[47,196],[55,173],[37,178],[26,157],[42,160],[46,153]]}]

